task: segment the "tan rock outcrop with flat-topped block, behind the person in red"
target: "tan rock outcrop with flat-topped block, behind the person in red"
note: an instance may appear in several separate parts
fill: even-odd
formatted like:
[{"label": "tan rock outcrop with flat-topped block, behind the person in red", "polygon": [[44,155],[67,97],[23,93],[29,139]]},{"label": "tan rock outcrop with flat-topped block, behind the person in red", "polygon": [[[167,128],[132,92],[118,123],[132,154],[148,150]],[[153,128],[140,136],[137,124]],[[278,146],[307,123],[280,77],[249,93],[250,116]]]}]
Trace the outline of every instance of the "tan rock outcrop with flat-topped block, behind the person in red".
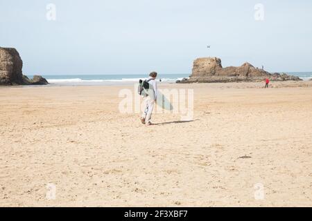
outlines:
[{"label": "tan rock outcrop with flat-topped block, behind the person in red", "polygon": [[300,81],[299,77],[274,73],[270,74],[263,69],[254,68],[249,63],[240,67],[223,68],[221,60],[217,57],[196,59],[193,63],[193,71],[189,79],[182,79],[177,83],[212,83],[212,82],[235,82],[235,81],[263,81],[268,78],[272,81]]}]

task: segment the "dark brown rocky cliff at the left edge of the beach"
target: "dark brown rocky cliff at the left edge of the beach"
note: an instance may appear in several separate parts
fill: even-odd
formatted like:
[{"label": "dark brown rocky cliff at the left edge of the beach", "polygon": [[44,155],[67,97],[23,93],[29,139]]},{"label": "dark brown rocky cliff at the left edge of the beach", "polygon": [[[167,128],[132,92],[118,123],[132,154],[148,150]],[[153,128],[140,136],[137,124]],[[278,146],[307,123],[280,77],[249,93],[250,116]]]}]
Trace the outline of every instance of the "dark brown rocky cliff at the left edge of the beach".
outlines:
[{"label": "dark brown rocky cliff at the left edge of the beach", "polygon": [[19,52],[15,48],[0,47],[0,85],[49,84],[41,76],[34,76],[33,79],[28,79],[28,77],[23,75],[22,67],[23,61],[21,61]]}]

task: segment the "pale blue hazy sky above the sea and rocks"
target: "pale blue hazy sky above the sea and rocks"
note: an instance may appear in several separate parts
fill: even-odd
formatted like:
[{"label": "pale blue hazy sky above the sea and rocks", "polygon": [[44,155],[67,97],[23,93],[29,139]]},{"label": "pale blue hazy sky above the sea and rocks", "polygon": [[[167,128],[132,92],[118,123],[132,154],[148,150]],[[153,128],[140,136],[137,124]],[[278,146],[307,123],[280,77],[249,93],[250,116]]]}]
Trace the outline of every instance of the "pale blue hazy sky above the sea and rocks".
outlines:
[{"label": "pale blue hazy sky above the sea and rocks", "polygon": [[0,46],[26,75],[188,74],[198,57],[308,72],[312,1],[1,0]]}]

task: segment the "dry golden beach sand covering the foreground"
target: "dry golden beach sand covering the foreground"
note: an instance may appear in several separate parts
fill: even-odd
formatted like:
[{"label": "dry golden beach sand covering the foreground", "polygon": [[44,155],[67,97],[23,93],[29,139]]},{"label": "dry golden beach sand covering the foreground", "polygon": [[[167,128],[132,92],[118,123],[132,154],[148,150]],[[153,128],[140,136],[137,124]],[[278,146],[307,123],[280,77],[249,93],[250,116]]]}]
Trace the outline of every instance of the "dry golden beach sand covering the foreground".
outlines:
[{"label": "dry golden beach sand covering the foreground", "polygon": [[312,82],[272,85],[162,84],[194,88],[194,121],[155,126],[124,86],[2,87],[0,206],[312,206]]}]

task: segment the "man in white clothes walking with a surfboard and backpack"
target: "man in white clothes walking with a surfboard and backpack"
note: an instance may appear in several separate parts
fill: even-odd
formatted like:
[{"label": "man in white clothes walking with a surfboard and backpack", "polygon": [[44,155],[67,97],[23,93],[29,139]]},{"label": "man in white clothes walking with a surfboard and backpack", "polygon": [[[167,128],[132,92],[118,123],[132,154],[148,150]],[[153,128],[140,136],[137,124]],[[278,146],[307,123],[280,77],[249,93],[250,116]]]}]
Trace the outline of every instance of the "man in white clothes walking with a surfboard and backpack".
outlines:
[{"label": "man in white clothes walking with a surfboard and backpack", "polygon": [[148,81],[149,88],[147,90],[147,95],[144,98],[144,106],[146,107],[144,113],[141,116],[142,124],[146,124],[147,126],[152,125],[150,119],[152,118],[152,113],[154,110],[154,104],[157,100],[157,83],[156,83],[157,73],[150,73],[150,77],[146,81]]}]

